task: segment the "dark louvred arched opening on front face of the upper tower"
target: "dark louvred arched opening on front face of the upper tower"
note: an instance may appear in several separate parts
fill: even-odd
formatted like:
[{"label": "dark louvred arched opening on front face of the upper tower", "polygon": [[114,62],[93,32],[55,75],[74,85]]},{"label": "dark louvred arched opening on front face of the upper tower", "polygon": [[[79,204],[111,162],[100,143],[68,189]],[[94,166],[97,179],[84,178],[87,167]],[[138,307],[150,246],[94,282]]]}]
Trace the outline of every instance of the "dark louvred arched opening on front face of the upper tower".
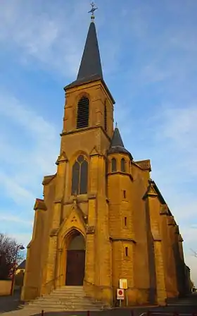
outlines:
[{"label": "dark louvred arched opening on front face of the upper tower", "polygon": [[77,106],[77,128],[89,126],[89,99],[82,97]]}]

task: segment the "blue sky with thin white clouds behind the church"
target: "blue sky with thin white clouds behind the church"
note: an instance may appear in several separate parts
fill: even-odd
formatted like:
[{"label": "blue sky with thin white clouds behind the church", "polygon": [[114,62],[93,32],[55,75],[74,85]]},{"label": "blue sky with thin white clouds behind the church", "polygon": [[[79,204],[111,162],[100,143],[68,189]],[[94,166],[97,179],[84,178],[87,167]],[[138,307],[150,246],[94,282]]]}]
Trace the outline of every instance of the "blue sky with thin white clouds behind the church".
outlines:
[{"label": "blue sky with thin white clouds behind the church", "polygon": [[[56,172],[63,87],[75,80],[89,0],[1,0],[0,231],[27,243],[43,176]],[[197,2],[97,0],[106,83],[134,159],[151,159],[197,285]]]}]

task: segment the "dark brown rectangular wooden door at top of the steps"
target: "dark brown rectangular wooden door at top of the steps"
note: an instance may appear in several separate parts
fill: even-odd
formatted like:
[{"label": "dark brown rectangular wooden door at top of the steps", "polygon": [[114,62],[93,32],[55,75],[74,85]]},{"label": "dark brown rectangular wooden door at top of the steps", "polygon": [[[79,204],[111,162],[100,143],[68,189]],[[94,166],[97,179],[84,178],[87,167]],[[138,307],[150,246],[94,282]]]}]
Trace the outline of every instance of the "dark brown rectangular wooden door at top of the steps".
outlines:
[{"label": "dark brown rectangular wooden door at top of the steps", "polygon": [[85,250],[67,250],[65,285],[82,286],[85,271]]}]

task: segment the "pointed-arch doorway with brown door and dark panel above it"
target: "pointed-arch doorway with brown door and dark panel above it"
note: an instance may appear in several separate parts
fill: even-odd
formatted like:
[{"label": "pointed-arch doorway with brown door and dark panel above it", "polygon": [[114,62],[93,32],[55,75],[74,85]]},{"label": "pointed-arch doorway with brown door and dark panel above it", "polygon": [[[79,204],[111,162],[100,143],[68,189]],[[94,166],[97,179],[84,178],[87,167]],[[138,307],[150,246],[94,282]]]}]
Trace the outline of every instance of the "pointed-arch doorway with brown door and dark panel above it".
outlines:
[{"label": "pointed-arch doorway with brown door and dark panel above it", "polygon": [[65,285],[82,286],[85,271],[85,240],[79,231],[73,231],[66,252]]}]

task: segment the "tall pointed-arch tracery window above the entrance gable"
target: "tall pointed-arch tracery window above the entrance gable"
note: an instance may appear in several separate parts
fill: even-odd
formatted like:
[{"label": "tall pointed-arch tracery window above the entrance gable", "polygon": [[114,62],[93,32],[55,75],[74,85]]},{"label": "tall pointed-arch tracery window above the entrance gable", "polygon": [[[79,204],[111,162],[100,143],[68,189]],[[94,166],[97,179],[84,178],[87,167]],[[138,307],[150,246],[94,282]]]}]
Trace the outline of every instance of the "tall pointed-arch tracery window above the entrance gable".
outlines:
[{"label": "tall pointed-arch tracery window above the entrance gable", "polygon": [[77,157],[72,166],[72,195],[86,194],[88,183],[88,162],[83,154]]}]

